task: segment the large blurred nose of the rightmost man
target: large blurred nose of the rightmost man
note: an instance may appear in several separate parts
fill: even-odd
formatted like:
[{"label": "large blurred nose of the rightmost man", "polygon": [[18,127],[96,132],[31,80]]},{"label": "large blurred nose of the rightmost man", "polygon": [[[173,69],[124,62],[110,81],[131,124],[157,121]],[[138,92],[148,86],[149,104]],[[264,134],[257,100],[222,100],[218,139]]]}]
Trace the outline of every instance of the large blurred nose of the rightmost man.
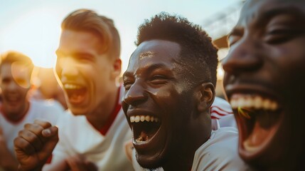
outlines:
[{"label": "large blurred nose of the rightmost man", "polygon": [[244,36],[230,47],[224,58],[223,70],[226,73],[239,74],[256,71],[262,66],[262,46],[250,36]]}]

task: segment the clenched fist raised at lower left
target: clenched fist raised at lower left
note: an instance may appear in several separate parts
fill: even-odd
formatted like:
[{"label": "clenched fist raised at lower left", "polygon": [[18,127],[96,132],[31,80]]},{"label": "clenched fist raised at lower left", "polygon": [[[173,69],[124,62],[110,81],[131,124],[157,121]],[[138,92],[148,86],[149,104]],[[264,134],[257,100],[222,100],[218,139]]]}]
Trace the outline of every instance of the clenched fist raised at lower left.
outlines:
[{"label": "clenched fist raised at lower left", "polygon": [[58,142],[58,128],[35,120],[27,123],[14,140],[19,170],[41,170]]}]

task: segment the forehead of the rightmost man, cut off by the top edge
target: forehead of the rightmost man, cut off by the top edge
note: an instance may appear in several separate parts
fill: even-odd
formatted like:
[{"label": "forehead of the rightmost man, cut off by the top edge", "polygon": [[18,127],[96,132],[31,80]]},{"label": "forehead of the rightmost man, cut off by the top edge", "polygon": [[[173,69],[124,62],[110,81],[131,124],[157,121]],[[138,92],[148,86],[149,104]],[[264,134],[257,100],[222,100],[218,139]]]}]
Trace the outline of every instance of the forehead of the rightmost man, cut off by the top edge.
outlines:
[{"label": "forehead of the rightmost man, cut off by the top edge", "polygon": [[248,25],[258,19],[279,14],[294,14],[305,17],[304,0],[248,0],[242,7],[238,25]]}]

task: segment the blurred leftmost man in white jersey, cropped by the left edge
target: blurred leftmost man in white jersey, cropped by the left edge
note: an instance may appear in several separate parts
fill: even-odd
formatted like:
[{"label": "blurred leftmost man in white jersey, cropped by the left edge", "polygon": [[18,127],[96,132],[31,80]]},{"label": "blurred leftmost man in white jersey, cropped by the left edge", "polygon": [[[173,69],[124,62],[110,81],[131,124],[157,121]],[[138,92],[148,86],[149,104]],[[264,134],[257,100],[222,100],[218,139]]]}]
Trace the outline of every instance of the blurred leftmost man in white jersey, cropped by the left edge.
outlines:
[{"label": "blurred leftmost man in white jersey, cropped by the left edge", "polygon": [[1,54],[0,168],[4,170],[17,170],[14,138],[25,123],[41,119],[55,124],[63,114],[63,109],[55,103],[28,98],[33,67],[31,58],[20,52]]}]

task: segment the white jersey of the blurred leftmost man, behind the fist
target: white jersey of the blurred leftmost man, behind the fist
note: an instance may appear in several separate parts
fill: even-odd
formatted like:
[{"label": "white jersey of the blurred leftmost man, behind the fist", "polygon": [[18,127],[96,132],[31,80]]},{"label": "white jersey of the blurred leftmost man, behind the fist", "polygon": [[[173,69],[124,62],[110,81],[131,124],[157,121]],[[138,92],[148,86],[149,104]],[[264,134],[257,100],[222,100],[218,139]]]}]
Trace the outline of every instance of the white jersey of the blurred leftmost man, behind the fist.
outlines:
[{"label": "white jersey of the blurred leftmost man, behind the fist", "polygon": [[12,123],[4,117],[3,113],[0,114],[0,126],[4,132],[6,145],[12,155],[14,152],[14,139],[17,137],[18,132],[23,130],[23,125],[26,123],[33,123],[34,120],[45,120],[52,124],[57,122],[60,115],[64,111],[61,106],[55,105],[53,100],[31,100],[28,112],[18,123]]}]

